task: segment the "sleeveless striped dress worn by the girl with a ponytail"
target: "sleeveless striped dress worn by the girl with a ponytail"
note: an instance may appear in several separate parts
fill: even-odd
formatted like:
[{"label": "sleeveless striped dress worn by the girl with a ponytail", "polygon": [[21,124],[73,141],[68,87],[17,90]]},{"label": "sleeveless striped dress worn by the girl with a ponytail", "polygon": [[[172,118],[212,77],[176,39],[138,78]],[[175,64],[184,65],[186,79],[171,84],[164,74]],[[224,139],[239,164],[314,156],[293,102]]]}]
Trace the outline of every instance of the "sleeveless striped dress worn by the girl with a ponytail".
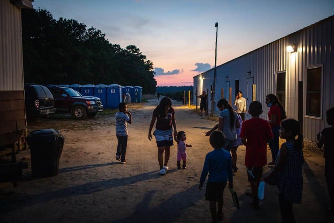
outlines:
[{"label": "sleeveless striped dress worn by the girl with a ponytail", "polygon": [[[295,150],[294,143],[286,142],[288,154],[285,165],[279,173],[277,187],[286,201],[301,203],[303,192],[303,150]],[[278,158],[281,150],[278,152]],[[279,160],[276,158],[276,161]]]}]

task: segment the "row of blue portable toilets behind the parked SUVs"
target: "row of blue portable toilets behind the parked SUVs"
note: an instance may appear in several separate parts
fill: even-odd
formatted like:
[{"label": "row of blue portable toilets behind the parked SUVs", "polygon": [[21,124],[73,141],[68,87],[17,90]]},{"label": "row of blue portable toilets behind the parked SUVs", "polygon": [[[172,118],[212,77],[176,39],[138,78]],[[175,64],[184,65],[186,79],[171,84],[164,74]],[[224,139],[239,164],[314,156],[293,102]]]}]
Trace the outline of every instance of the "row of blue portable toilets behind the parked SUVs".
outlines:
[{"label": "row of blue portable toilets behind the parked SUVs", "polygon": [[120,102],[124,102],[123,94],[129,94],[131,96],[131,102],[139,103],[142,101],[143,88],[140,86],[126,86],[123,87],[118,84],[99,84],[99,85],[58,85],[62,87],[69,87],[73,90],[80,92],[85,96],[95,96],[101,99],[104,108],[118,108]]}]

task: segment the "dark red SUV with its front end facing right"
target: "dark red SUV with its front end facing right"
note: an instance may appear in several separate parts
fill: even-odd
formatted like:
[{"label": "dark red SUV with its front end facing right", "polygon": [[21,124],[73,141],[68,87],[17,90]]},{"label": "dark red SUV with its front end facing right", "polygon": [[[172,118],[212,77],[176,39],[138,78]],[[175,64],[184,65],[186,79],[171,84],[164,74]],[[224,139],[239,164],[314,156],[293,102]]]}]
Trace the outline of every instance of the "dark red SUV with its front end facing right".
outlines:
[{"label": "dark red SUV with its front end facing right", "polygon": [[54,97],[54,106],[57,112],[71,113],[74,118],[84,119],[95,117],[99,111],[103,111],[101,99],[98,97],[82,96],[72,88],[54,85],[46,86]]}]

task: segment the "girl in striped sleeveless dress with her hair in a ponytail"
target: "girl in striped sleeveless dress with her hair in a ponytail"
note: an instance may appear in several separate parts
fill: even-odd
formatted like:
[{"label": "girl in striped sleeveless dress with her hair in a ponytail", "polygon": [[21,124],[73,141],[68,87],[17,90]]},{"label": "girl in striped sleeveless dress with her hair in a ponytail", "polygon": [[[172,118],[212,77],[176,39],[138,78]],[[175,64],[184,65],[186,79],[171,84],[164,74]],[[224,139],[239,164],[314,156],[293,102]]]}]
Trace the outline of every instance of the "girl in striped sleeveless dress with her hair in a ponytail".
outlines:
[{"label": "girl in striped sleeveless dress with her hair in a ponytail", "polygon": [[286,139],[286,142],[282,144],[275,167],[265,181],[278,176],[277,187],[280,191],[282,222],[295,222],[292,204],[301,203],[303,192],[303,135],[300,133],[299,122],[295,119],[282,121],[280,136]]}]

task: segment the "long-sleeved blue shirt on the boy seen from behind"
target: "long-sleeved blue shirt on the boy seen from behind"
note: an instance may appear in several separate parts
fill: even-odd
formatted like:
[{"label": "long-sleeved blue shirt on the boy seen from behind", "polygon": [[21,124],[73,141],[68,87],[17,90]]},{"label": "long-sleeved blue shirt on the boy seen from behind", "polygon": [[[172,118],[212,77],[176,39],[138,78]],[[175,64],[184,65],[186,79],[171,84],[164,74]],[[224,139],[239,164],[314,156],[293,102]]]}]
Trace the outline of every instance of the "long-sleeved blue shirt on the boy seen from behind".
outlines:
[{"label": "long-sleeved blue shirt on the boy seen from behind", "polygon": [[209,173],[208,182],[226,183],[233,182],[232,157],[225,149],[214,149],[205,156],[200,183],[204,183]]}]

